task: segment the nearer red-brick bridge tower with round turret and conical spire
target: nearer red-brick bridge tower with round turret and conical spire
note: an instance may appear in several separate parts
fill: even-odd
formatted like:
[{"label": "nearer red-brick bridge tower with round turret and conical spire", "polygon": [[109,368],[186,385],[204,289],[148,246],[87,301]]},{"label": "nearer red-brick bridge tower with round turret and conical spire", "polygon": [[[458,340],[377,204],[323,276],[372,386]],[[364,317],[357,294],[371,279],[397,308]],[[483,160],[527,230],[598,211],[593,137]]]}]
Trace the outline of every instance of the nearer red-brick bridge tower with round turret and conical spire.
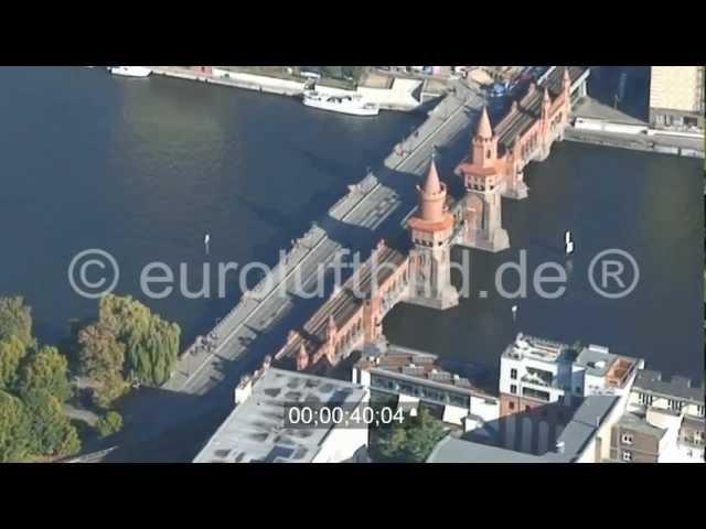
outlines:
[{"label": "nearer red-brick bridge tower with round turret and conical spire", "polygon": [[443,311],[458,305],[459,293],[451,284],[453,215],[447,208],[447,188],[439,180],[434,155],[417,193],[419,208],[408,220],[415,246],[409,252],[407,301]]}]

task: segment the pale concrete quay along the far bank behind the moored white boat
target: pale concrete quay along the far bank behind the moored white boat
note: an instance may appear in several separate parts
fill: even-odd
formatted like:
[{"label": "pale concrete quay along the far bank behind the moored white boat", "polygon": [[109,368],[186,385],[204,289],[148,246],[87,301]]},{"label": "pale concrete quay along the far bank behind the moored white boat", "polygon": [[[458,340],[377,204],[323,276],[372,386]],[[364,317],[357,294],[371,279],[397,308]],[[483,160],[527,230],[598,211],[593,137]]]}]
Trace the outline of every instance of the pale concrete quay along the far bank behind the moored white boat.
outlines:
[{"label": "pale concrete quay along the far bank behind the moored white boat", "polygon": [[[302,80],[234,72],[217,67],[212,67],[210,74],[179,66],[150,66],[150,68],[157,75],[289,97],[301,97],[306,85]],[[328,86],[318,86],[317,89],[325,94],[350,93],[350,90]],[[383,110],[403,112],[415,111],[422,107],[422,82],[415,79],[394,79],[392,86],[385,88],[359,86],[356,90],[368,100],[378,104]],[[418,93],[419,95],[417,96]]]}]

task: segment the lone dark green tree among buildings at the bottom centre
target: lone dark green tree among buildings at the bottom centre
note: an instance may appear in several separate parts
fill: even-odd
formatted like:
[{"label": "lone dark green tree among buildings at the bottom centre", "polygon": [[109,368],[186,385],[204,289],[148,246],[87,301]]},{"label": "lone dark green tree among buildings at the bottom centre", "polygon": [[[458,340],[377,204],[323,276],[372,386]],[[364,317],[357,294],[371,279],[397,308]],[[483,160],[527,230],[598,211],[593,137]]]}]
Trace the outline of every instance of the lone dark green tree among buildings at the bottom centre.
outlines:
[{"label": "lone dark green tree among buildings at the bottom centre", "polygon": [[417,417],[406,414],[404,421],[382,430],[377,450],[391,461],[424,463],[445,435],[443,423],[420,408]]}]

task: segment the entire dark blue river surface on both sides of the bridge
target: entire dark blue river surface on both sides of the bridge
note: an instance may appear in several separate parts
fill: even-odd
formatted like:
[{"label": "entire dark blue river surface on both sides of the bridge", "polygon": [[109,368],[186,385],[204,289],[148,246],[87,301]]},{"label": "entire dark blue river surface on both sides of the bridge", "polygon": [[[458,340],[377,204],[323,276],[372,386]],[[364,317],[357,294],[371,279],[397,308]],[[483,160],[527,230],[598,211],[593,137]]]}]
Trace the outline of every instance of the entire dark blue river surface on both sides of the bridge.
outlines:
[{"label": "entire dark blue river surface on both sides of the bridge", "polygon": [[[176,321],[191,341],[227,312],[239,290],[229,285],[221,300],[148,300],[139,289],[146,263],[191,264],[188,281],[197,290],[202,274],[194,269],[204,262],[206,233],[207,262],[274,263],[278,249],[422,120],[392,112],[349,118],[286,97],[160,77],[120,79],[98,68],[0,68],[0,295],[28,299],[43,342],[61,339],[71,319],[96,313],[96,301],[76,295],[66,277],[72,258],[88,248],[118,261],[118,293]],[[503,201],[512,248],[469,251],[471,298],[445,313],[398,305],[385,334],[495,365],[524,331],[609,345],[667,374],[700,377],[700,166],[555,145],[548,161],[526,171],[530,198]],[[494,293],[495,269],[517,261],[522,249],[530,270],[547,259],[563,262],[565,229],[577,252],[561,299]],[[590,258],[608,248],[629,251],[640,267],[638,287],[623,300],[598,296],[586,279]],[[479,299],[480,290],[489,296]]]}]

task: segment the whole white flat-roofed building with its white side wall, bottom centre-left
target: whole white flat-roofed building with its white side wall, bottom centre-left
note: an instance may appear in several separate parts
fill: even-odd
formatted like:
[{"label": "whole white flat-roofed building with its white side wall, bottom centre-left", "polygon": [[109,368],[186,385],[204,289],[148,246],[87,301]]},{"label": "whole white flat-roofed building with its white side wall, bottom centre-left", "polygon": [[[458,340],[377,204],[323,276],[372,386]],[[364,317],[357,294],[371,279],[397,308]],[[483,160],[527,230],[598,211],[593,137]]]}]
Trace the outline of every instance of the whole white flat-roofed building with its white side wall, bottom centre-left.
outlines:
[{"label": "whole white flat-roofed building with its white side wall, bottom centre-left", "polygon": [[235,390],[236,408],[194,463],[340,463],[367,446],[367,428],[341,423],[290,427],[289,407],[366,404],[367,388],[341,380],[264,368]]}]

